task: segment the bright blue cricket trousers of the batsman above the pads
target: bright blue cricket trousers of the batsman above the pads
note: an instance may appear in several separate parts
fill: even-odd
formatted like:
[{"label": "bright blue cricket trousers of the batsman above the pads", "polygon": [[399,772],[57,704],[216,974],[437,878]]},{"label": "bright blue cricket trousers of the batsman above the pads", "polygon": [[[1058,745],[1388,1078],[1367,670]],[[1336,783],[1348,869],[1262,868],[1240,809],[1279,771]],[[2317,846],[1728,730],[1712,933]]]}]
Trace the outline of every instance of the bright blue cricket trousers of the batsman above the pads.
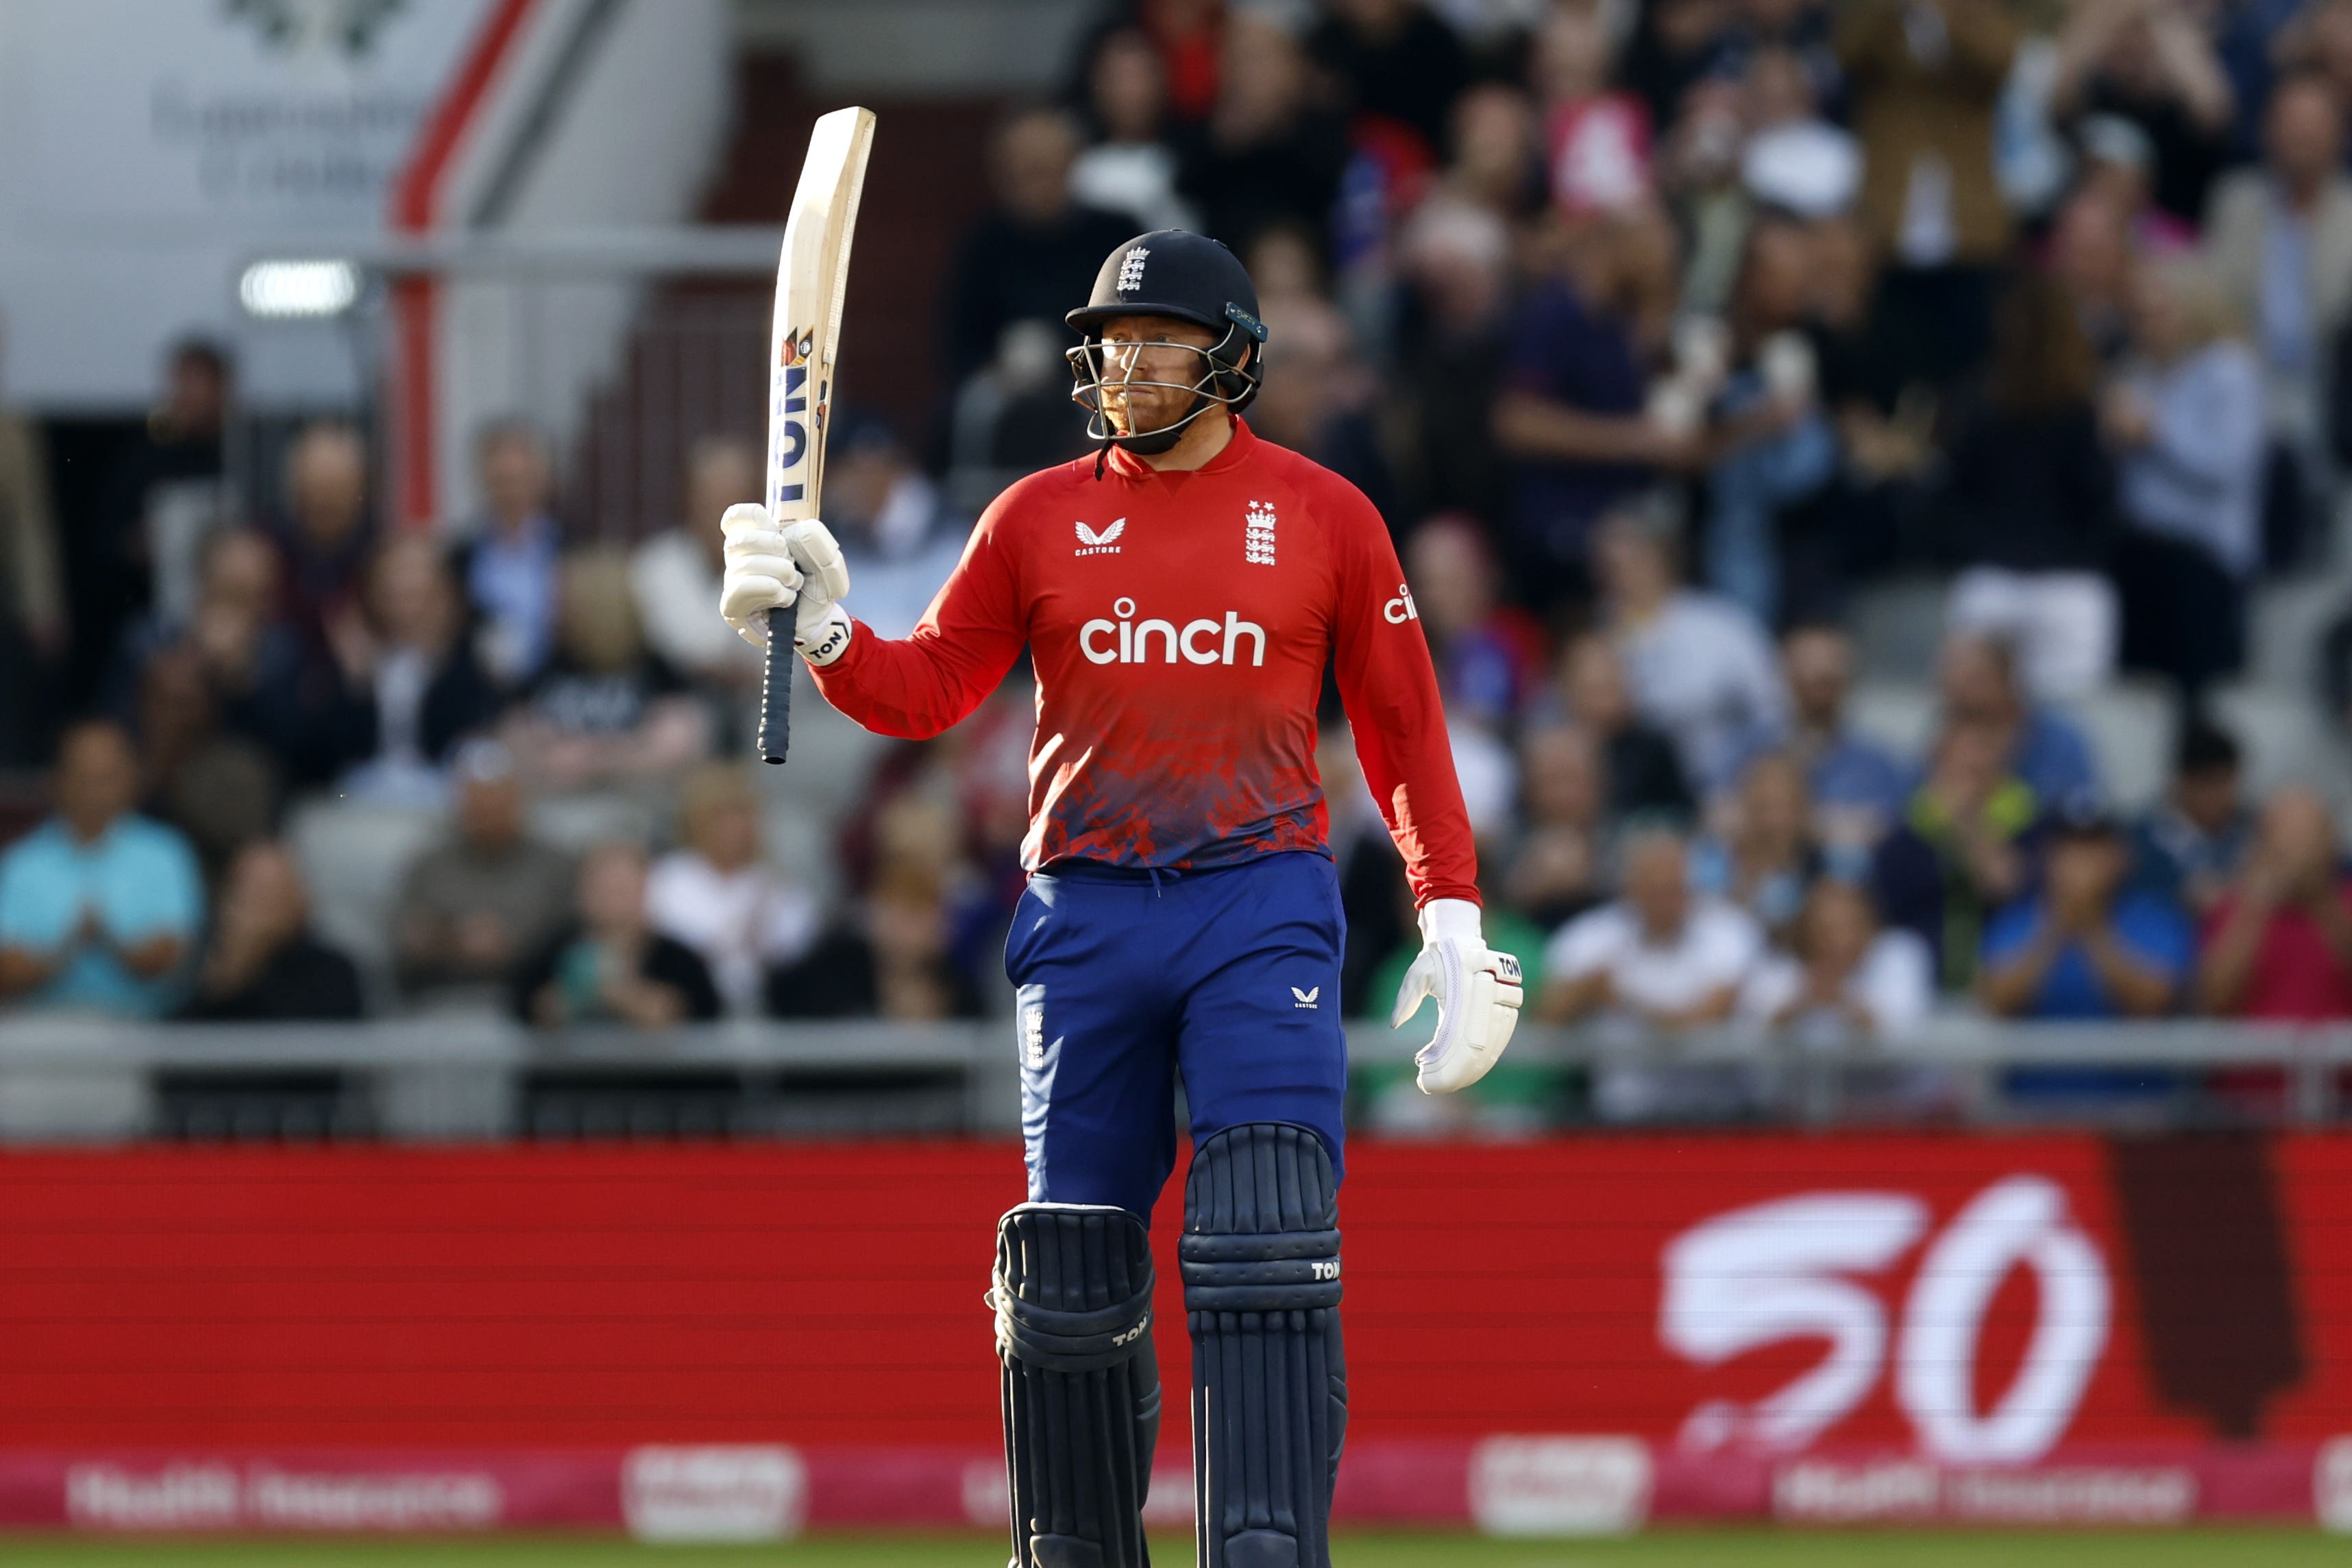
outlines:
[{"label": "bright blue cricket trousers of the batsman above the pads", "polygon": [[1242,1121],[1296,1121],[1338,1175],[1343,931],[1338,875],[1305,851],[1197,872],[1065,860],[1030,877],[1004,943],[1030,1201],[1150,1222],[1176,1168],[1178,1074],[1195,1147]]}]

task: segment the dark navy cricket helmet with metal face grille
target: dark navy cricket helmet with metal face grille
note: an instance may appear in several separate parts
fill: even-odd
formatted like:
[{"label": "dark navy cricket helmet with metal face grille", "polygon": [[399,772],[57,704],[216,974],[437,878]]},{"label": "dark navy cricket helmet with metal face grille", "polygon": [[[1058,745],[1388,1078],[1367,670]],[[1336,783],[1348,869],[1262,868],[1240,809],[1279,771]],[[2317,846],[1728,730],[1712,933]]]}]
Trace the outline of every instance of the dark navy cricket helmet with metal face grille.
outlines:
[{"label": "dark navy cricket helmet with metal face grille", "polygon": [[[1124,374],[1110,374],[1112,386],[1162,386],[1192,393],[1192,407],[1183,418],[1143,435],[1120,435],[1103,411],[1108,364],[1103,324],[1122,315],[1169,315],[1218,334],[1209,348],[1192,348],[1202,360],[1200,376],[1192,381],[1136,381],[1134,357],[1127,360]],[[1167,451],[1185,425],[1211,407],[1240,414],[1258,395],[1258,364],[1251,353],[1265,343],[1258,289],[1249,282],[1249,268],[1242,266],[1240,256],[1209,235],[1183,228],[1155,228],[1148,235],[1136,235],[1110,252],[1103,270],[1094,275],[1094,294],[1063,320],[1087,339],[1068,350],[1070,374],[1077,378],[1070,400],[1087,409],[1087,435],[1103,444]],[[1244,355],[1249,357],[1247,367],[1242,364]]]}]

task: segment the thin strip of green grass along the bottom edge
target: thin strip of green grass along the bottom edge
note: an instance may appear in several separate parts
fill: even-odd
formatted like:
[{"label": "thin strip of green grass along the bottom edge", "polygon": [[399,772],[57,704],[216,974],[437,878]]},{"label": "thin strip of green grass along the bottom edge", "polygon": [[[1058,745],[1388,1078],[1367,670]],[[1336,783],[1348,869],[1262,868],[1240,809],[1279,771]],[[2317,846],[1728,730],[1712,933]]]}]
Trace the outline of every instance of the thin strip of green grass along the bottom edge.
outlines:
[{"label": "thin strip of green grass along the bottom edge", "polygon": [[[1164,1540],[1167,1568],[1192,1561]],[[2352,1540],[2312,1530],[2171,1533],[1877,1533],[1665,1530],[1628,1540],[1505,1542],[1470,1535],[1348,1535],[1336,1568],[2328,1568]],[[1004,1547],[971,1535],[830,1535],[788,1547],[635,1547],[600,1537],[499,1540],[92,1540],[0,1535],[7,1568],[1004,1568]]]}]

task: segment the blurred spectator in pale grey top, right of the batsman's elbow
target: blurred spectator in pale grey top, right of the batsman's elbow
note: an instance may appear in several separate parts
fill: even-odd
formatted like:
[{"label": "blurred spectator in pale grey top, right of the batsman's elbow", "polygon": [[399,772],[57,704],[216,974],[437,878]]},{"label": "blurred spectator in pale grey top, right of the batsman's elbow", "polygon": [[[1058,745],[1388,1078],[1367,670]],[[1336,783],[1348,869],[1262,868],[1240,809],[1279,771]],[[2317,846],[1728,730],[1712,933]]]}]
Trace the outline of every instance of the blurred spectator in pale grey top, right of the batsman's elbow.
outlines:
[{"label": "blurred spectator in pale grey top, right of the batsman's elbow", "polygon": [[1731,599],[1679,585],[1672,527],[1656,508],[1618,508],[1592,562],[1635,710],[1675,741],[1703,795],[1729,788],[1740,757],[1788,731],[1764,628]]}]

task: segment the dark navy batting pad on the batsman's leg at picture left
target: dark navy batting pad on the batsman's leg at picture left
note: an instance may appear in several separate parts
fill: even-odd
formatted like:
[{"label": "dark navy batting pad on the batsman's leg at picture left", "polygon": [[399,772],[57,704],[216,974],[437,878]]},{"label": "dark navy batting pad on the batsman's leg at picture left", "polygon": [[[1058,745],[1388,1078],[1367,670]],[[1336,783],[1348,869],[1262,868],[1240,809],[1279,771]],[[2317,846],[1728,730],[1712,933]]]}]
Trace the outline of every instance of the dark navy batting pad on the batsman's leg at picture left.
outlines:
[{"label": "dark navy batting pad on the batsman's leg at picture left", "polygon": [[1023,1204],[997,1225],[1014,1568],[1145,1568],[1160,1443],[1152,1248],[1124,1208]]}]

